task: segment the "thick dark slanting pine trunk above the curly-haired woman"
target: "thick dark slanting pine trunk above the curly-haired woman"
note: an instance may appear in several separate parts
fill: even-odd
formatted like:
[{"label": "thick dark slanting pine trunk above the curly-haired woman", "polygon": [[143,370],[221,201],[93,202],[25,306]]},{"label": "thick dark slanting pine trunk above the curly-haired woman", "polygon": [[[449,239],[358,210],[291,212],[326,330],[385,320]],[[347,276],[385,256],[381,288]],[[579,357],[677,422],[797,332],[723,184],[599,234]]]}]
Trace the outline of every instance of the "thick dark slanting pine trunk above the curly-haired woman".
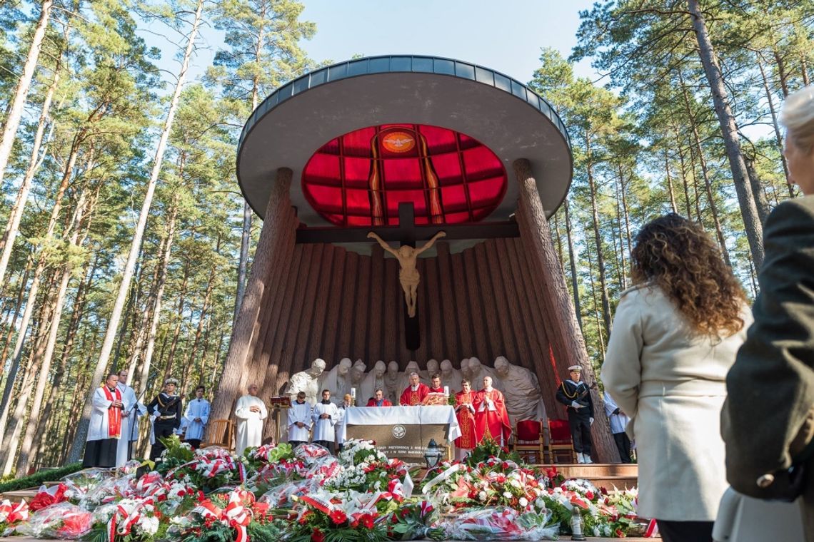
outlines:
[{"label": "thick dark slanting pine trunk above the curly-haired woman", "polygon": [[737,125],[735,117],[727,101],[727,92],[724,85],[724,77],[721,75],[720,67],[716,63],[715,51],[712,49],[707,25],[704,23],[703,15],[698,7],[698,0],[687,0],[687,6],[692,14],[693,29],[698,40],[698,54],[704,66],[712,91],[712,101],[715,102],[715,110],[720,122],[721,134],[724,137],[729,167],[732,170],[737,202],[741,207],[743,224],[746,228],[746,238],[749,241],[752,259],[755,260],[755,267],[758,269],[763,265],[763,225],[758,218],[758,211],[755,208],[755,198],[752,196],[749,174],[746,172],[746,163],[743,160],[741,145],[737,137]]}]

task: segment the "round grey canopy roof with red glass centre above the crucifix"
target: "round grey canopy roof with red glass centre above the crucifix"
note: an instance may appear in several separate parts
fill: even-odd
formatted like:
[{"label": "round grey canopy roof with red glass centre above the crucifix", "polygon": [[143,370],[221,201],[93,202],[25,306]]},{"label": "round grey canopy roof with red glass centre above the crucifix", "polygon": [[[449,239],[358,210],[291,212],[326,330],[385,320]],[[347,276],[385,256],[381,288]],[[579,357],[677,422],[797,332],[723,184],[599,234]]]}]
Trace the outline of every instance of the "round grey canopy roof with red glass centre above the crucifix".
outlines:
[{"label": "round grey canopy roof with red glass centre above the crucifix", "polygon": [[289,167],[300,222],[342,228],[396,225],[399,202],[414,203],[417,223],[509,219],[518,158],[551,215],[572,162],[549,104],[488,68],[393,55],[323,67],[269,95],[243,128],[237,167],[258,215]]}]

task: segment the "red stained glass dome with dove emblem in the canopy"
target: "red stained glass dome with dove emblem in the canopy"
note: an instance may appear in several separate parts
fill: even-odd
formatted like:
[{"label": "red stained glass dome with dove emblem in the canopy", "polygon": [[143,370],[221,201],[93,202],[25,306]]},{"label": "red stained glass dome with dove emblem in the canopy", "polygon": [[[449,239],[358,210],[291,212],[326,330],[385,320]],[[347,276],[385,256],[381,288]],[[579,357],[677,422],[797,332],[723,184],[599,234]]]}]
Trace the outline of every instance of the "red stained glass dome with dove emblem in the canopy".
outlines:
[{"label": "red stained glass dome with dove emblem in the canopy", "polygon": [[486,218],[506,192],[506,172],[488,147],[426,124],[383,124],[337,137],[306,163],[311,206],[342,227],[397,226],[399,204],[415,221],[467,223]]}]

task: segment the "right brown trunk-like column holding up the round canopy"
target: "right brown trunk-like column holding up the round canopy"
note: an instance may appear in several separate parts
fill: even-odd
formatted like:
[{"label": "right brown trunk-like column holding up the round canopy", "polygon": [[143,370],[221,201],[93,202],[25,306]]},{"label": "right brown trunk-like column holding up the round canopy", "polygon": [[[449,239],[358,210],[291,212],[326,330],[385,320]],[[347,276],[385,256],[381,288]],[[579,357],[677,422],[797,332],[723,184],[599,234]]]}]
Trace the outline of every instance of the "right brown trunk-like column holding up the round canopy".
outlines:
[{"label": "right brown trunk-like column holding up the round canopy", "polygon": [[[529,265],[535,271],[539,288],[543,290],[545,314],[549,321],[549,341],[554,350],[558,369],[566,374],[571,365],[582,366],[586,382],[596,381],[593,366],[585,349],[585,341],[576,322],[574,306],[568,295],[562,268],[551,242],[548,219],[543,202],[537,192],[531,164],[525,158],[514,161],[514,174],[519,184],[517,221],[520,236],[525,239]],[[595,449],[594,458],[599,462],[619,462],[619,452],[610,435],[608,418],[602,406],[598,390],[591,392],[594,405],[594,423],[591,438]]]}]

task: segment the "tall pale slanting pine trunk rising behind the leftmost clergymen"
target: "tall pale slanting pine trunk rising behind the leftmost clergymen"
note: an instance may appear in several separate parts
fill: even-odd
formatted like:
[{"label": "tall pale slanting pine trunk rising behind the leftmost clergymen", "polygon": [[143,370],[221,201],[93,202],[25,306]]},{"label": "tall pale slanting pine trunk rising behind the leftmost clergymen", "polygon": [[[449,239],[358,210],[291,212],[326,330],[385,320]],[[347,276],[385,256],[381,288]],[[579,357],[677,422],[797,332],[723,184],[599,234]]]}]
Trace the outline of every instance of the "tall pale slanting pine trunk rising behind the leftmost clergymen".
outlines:
[{"label": "tall pale slanting pine trunk rising behind the leftmost clergymen", "polygon": [[[181,71],[178,72],[175,89],[173,91],[173,98],[170,100],[167,118],[164,120],[164,128],[161,130],[158,147],[155,150],[155,158],[153,158],[153,167],[150,174],[150,180],[147,183],[147,192],[144,196],[141,213],[138,215],[138,223],[136,224],[135,232],[133,232],[133,244],[130,245],[130,251],[125,262],[124,270],[122,271],[121,283],[119,284],[119,291],[116,294],[116,301],[113,305],[110,320],[107,322],[107,332],[105,333],[102,343],[102,350],[99,353],[98,361],[94,367],[94,375],[91,382],[101,382],[104,377],[104,372],[107,371],[108,362],[110,362],[110,355],[113,350],[113,341],[116,340],[116,332],[119,328],[119,321],[121,319],[122,311],[125,308],[125,301],[130,289],[130,281],[133,279],[133,269],[136,265],[136,258],[142,245],[142,236],[144,236],[144,229],[147,226],[147,216],[150,215],[150,208],[152,206],[152,198],[155,193],[155,184],[158,182],[158,177],[161,172],[161,163],[164,160],[164,151],[167,149],[167,141],[169,134],[173,128],[173,120],[177,111],[178,99],[181,98],[181,91],[186,80],[186,72],[190,65],[190,57],[192,51],[195,50],[195,37],[198,34],[198,28],[201,23],[201,14],[204,10],[204,0],[198,0],[195,10],[195,19],[192,23],[192,28],[187,36],[186,51],[182,60]],[[88,425],[90,424],[90,410],[92,408],[93,393],[89,392],[85,397],[85,405],[82,406],[82,417],[79,422],[79,430],[77,431],[76,440],[81,440],[84,445],[84,440],[88,434]],[[81,446],[74,446],[72,448],[72,460],[79,458],[79,450]]]}]

